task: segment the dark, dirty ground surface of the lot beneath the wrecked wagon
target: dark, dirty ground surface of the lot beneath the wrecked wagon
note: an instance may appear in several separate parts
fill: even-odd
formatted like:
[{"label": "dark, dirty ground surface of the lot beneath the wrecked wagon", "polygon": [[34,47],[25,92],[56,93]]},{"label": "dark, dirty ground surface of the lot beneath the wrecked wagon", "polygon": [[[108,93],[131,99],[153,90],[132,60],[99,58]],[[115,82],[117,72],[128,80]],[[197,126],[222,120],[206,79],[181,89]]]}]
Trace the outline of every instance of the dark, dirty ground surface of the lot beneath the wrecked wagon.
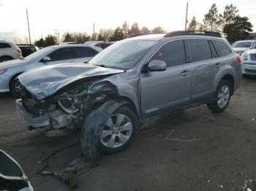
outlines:
[{"label": "dark, dirty ground surface of the lot beneath the wrecked wagon", "polygon": [[[78,176],[77,190],[247,190],[256,189],[256,79],[244,78],[222,114],[206,106],[172,114],[143,130],[124,152],[102,155],[99,165]],[[183,141],[181,141],[183,140]],[[0,149],[22,165],[34,190],[69,190],[37,174],[39,160],[49,171],[80,155],[80,135],[49,138],[29,131],[15,100],[0,95]],[[244,187],[244,188],[243,188]]]}]

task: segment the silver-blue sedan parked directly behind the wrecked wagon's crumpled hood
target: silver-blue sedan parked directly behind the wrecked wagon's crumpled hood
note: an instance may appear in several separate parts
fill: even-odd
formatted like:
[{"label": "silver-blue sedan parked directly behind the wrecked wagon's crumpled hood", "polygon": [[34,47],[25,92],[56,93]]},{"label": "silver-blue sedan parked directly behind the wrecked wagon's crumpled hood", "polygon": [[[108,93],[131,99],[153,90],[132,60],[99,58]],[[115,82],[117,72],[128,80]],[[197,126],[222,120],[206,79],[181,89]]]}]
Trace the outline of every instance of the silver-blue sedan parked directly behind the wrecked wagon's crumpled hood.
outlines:
[{"label": "silver-blue sedan parked directly behind the wrecked wagon's crumpled hood", "polygon": [[63,44],[45,47],[26,58],[0,63],[0,93],[15,93],[18,88],[17,77],[29,69],[57,63],[86,63],[101,48],[83,44]]}]

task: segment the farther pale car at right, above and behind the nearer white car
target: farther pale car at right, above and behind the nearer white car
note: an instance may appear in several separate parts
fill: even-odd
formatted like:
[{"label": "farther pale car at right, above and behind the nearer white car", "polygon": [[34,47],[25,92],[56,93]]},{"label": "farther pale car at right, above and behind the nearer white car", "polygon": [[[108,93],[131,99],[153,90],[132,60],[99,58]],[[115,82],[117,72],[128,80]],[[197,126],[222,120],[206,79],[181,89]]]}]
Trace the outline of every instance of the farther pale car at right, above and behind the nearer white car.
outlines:
[{"label": "farther pale car at right, above and behind the nearer white car", "polygon": [[232,44],[232,47],[233,47],[233,50],[235,50],[235,52],[238,55],[241,55],[244,52],[246,52],[246,50],[249,50],[251,48],[255,48],[256,47],[256,40],[237,41],[237,42],[234,42]]}]

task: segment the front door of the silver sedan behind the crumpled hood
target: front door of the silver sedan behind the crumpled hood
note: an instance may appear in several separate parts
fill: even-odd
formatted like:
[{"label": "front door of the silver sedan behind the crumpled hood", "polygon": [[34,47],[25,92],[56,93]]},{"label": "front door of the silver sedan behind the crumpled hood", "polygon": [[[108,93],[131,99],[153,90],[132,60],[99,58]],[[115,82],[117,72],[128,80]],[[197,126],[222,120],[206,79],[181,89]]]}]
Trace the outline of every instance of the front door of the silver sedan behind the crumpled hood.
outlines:
[{"label": "front door of the silver sedan behind the crumpled hood", "polygon": [[64,47],[51,52],[48,57],[50,61],[47,64],[57,63],[74,63],[75,60],[75,47]]}]

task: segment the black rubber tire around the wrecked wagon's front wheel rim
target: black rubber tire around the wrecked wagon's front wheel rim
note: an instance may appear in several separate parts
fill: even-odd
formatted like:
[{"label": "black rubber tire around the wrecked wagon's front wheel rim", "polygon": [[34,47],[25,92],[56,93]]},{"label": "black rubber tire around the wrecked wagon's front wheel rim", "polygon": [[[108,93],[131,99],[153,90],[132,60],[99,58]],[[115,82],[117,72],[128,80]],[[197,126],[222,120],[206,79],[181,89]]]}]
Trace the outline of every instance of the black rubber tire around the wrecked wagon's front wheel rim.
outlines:
[{"label": "black rubber tire around the wrecked wagon's front wheel rim", "polygon": [[132,109],[129,109],[128,106],[120,106],[118,109],[116,109],[115,112],[113,112],[112,115],[114,114],[124,114],[125,116],[129,117],[129,120],[132,122],[132,132],[131,132],[131,135],[129,136],[128,141],[123,145],[121,145],[121,147],[116,147],[116,148],[106,147],[104,144],[102,144],[102,141],[100,139],[99,150],[107,154],[121,152],[122,150],[129,147],[129,145],[132,144],[132,142],[135,140],[135,136],[138,133],[139,121],[138,121],[138,117],[136,116],[135,112],[132,111]]}]

